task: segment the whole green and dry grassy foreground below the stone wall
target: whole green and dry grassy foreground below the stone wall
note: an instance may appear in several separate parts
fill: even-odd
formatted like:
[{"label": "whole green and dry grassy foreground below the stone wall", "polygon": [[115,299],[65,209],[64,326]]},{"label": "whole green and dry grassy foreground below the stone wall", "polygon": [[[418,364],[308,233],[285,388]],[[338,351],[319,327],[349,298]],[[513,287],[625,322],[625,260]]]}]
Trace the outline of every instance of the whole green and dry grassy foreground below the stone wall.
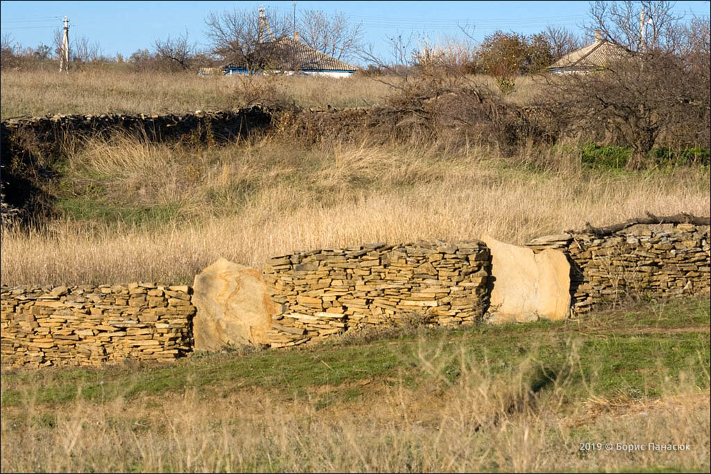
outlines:
[{"label": "whole green and dry grassy foreground below the stone wall", "polygon": [[705,297],[174,365],[4,370],[1,468],[707,472],[709,325]]}]

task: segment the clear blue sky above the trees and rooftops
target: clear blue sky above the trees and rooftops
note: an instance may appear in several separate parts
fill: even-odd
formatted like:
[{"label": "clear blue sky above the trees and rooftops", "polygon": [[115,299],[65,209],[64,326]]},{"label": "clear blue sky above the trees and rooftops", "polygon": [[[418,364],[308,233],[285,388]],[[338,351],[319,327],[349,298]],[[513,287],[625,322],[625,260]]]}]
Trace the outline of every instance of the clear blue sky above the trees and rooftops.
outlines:
[{"label": "clear blue sky above the trees and rooftops", "polygon": [[[128,56],[152,48],[156,39],[188,31],[191,41],[207,48],[205,16],[210,11],[257,9],[260,4],[290,15],[292,1],[1,1],[0,29],[14,43],[36,47],[51,44],[63,16],[70,18],[70,35],[85,36],[101,45],[102,53]],[[587,1],[304,1],[296,9],[339,11],[362,23],[365,42],[385,55],[387,38],[401,34],[433,41],[457,35],[459,25],[474,26],[474,38],[496,30],[537,33],[547,25],[582,30]],[[675,10],[709,14],[708,1],[678,1]]]}]

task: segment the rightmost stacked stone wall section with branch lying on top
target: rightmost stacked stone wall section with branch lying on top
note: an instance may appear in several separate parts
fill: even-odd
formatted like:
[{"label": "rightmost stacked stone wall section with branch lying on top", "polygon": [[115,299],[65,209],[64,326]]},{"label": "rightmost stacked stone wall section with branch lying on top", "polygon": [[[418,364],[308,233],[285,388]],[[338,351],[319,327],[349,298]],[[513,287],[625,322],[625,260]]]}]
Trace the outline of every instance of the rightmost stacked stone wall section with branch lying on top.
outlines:
[{"label": "rightmost stacked stone wall section with branch lying on top", "polygon": [[574,313],[628,294],[658,297],[709,293],[709,226],[636,225],[613,235],[540,237],[534,251],[561,249],[571,263]]}]

